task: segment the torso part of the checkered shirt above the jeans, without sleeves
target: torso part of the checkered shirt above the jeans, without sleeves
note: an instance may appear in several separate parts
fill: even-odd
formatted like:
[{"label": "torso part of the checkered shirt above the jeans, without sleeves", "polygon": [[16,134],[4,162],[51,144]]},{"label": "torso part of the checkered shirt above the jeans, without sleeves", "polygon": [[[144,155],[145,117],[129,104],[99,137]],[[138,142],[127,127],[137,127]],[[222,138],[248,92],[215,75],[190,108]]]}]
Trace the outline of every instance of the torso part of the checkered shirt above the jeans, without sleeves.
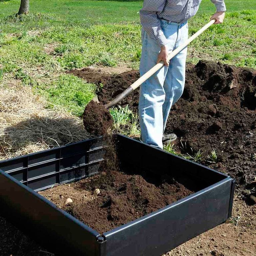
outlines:
[{"label": "torso part of the checkered shirt above the jeans, without sleeves", "polygon": [[158,17],[183,22],[196,14],[200,3],[201,0],[166,0],[164,9],[158,13]]}]

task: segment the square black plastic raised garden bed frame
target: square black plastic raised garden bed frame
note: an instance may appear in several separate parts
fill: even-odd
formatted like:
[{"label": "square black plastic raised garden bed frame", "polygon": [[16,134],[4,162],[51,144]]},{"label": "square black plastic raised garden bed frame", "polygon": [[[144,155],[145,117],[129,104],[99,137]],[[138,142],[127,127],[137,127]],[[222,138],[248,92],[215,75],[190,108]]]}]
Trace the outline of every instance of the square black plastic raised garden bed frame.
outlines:
[{"label": "square black plastic raised garden bed frame", "polygon": [[[234,180],[122,135],[123,166],[155,175],[172,172],[199,191],[104,234],[57,208],[36,191],[98,172],[101,137],[0,162],[0,214],[56,255],[161,255],[231,216]],[[133,157],[131,157],[133,156]]]}]

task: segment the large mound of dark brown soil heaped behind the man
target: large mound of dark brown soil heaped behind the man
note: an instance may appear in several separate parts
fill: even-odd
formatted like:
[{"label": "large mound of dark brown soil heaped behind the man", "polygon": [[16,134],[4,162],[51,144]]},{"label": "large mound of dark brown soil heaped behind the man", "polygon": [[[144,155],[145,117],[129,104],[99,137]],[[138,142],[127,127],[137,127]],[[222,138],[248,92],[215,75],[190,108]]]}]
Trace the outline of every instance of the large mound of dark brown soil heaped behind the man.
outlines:
[{"label": "large mound of dark brown soil heaped behind the man", "polygon": [[[112,101],[139,78],[138,71],[109,75],[85,68],[71,72],[104,85],[98,93],[101,104]],[[201,149],[204,165],[236,178],[242,197],[248,195],[247,182],[254,180],[256,170],[255,94],[254,70],[212,61],[188,64],[184,93],[172,107],[165,131],[178,135],[176,143],[182,153],[195,154]],[[138,100],[139,90],[135,90],[120,105],[129,104],[136,112]],[[217,163],[207,161],[213,149]]]}]

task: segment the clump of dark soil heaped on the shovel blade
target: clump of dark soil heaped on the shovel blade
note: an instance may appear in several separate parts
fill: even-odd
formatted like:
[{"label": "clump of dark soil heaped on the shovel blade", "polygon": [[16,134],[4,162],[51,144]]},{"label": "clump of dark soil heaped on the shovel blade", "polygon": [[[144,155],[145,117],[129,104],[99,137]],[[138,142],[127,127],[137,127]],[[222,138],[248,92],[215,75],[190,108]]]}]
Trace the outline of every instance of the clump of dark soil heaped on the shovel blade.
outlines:
[{"label": "clump of dark soil heaped on the shovel blade", "polygon": [[83,123],[87,132],[99,136],[107,133],[113,121],[109,111],[103,105],[91,101],[84,109]]}]

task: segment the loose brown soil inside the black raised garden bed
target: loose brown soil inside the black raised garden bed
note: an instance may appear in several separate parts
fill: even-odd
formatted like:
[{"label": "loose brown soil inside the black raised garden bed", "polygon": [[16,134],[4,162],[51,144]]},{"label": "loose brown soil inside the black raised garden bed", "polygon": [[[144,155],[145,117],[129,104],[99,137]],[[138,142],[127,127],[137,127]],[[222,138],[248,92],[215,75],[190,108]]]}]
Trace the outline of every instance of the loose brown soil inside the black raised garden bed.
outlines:
[{"label": "loose brown soil inside the black raised garden bed", "polygon": [[[193,193],[193,187],[185,187],[171,176],[157,177],[150,173],[122,171],[59,185],[39,193],[99,233]],[[97,188],[100,194],[94,195]],[[73,203],[65,205],[67,198],[71,198]]]}]

